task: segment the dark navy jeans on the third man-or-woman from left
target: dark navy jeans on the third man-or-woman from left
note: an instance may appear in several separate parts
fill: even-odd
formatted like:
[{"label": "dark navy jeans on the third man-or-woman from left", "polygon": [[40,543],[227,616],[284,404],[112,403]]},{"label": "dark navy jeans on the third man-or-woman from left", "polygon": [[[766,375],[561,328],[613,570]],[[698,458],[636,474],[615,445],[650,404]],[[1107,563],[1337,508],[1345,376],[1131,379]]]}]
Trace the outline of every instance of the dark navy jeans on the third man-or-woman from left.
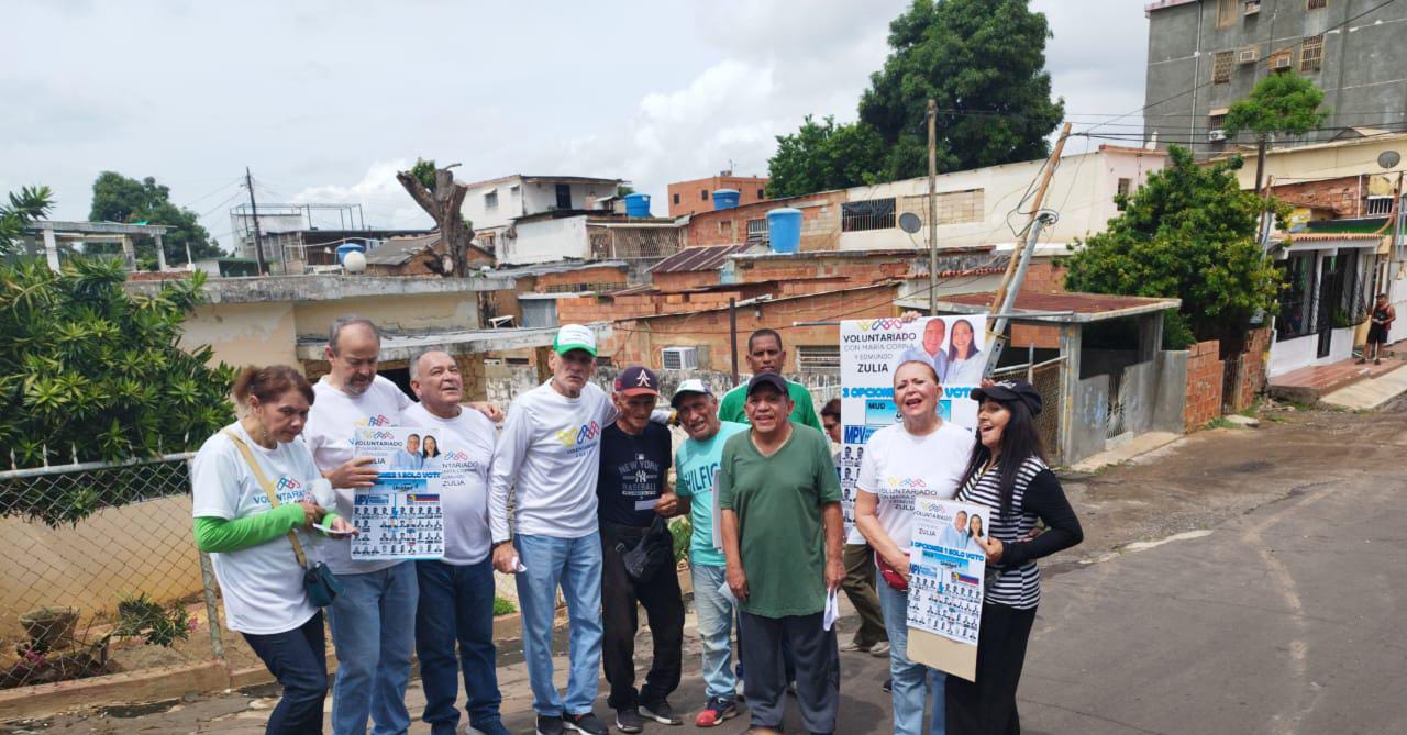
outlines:
[{"label": "dark navy jeans on the third man-or-woman from left", "polygon": [[[415,653],[425,684],[425,721],[432,734],[453,735],[459,725],[459,673],[464,672],[464,710],[484,732],[502,732],[498,675],[494,670],[494,564],[456,566],[415,562],[421,601],[415,609]],[[459,642],[459,661],[454,644]]]}]

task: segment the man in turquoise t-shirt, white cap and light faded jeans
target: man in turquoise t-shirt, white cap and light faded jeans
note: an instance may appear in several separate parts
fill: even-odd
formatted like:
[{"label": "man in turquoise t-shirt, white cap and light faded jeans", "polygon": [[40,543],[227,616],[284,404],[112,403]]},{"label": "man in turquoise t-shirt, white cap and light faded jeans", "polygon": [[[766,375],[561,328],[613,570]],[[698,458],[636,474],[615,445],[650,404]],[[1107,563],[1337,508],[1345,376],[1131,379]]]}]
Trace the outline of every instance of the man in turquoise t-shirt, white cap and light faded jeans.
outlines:
[{"label": "man in turquoise t-shirt, white cap and light faded jeans", "polygon": [[680,384],[670,401],[678,412],[680,426],[689,438],[674,457],[675,492],[689,503],[694,535],[689,538],[689,571],[694,576],[694,607],[698,611],[699,638],[704,641],[704,710],[694,724],[713,727],[737,714],[737,679],[732,668],[733,599],[723,594],[725,561],[722,540],[715,535],[715,490],[718,468],[727,437],[747,431],[747,424],[722,422],[718,399],[699,379]]}]

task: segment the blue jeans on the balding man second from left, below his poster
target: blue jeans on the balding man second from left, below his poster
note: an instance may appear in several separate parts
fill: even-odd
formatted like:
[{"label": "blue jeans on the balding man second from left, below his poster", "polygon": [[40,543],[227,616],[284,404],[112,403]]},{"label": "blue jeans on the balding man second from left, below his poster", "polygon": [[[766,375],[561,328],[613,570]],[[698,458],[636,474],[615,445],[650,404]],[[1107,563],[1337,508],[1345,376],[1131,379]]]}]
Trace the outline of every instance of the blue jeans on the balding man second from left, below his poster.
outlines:
[{"label": "blue jeans on the balding man second from left, below his poster", "polygon": [[411,727],[405,684],[411,679],[418,597],[415,565],[397,564],[364,575],[338,575],[345,592],[332,601],[333,735],[402,735]]}]

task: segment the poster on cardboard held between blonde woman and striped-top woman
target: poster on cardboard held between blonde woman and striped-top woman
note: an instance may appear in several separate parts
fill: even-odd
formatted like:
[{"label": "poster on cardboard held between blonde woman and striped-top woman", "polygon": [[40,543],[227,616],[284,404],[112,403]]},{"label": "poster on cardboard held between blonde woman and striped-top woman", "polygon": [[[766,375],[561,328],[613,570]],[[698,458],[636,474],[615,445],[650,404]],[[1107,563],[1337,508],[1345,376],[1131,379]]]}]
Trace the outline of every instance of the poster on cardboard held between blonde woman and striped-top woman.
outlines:
[{"label": "poster on cardboard held between blonde woman and striped-top woman", "polygon": [[915,499],[909,658],[969,682],[976,676],[989,513],[972,503]]}]

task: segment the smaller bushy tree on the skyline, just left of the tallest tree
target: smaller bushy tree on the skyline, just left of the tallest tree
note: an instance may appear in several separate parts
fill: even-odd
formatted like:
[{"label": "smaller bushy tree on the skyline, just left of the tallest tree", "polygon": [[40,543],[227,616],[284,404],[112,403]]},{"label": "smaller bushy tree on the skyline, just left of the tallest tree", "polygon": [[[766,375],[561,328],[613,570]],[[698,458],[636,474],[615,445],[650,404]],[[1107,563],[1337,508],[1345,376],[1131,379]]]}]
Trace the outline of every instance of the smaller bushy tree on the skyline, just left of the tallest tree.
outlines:
[{"label": "smaller bushy tree on the skyline, just left of the tallest tree", "polygon": [[875,183],[872,167],[884,150],[879,134],[862,122],[836,125],[832,115],[823,122],[806,115],[799,131],[777,136],[777,153],[767,162],[767,195],[796,197]]}]

